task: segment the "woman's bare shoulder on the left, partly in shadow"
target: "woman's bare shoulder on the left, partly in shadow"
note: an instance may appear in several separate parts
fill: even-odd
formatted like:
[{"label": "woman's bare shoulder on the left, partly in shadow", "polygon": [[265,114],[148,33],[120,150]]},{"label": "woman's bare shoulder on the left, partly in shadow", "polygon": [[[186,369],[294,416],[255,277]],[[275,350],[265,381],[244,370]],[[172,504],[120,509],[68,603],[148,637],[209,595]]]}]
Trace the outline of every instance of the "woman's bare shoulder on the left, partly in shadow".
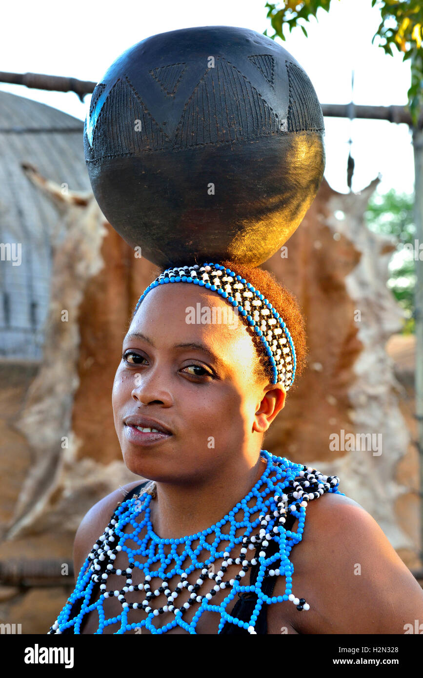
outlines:
[{"label": "woman's bare shoulder on the left, partly in shadow", "polygon": [[85,561],[85,558],[92,549],[92,545],[98,540],[99,536],[103,534],[108,525],[108,521],[113,515],[119,502],[125,500],[125,494],[130,492],[133,487],[140,485],[142,479],[132,481],[119,487],[117,490],[110,492],[100,501],[85,513],[81,524],[78,527],[75,541],[73,544],[73,564],[75,572],[75,580],[77,580],[79,570]]}]

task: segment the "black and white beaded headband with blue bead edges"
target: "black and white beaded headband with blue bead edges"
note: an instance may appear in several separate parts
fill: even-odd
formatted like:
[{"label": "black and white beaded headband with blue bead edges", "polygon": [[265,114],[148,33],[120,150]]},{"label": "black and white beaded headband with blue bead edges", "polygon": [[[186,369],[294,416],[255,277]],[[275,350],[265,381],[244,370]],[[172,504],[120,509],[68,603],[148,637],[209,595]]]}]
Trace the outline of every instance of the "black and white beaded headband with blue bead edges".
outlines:
[{"label": "black and white beaded headband with blue bead edges", "polygon": [[[150,283],[138,299],[134,315],[140,303],[154,287],[166,283],[194,283],[217,292],[228,304],[237,306],[245,325],[254,327],[260,337],[273,372],[273,384],[282,382],[289,391],[296,371],[296,352],[291,334],[276,308],[260,294],[256,287],[247,283],[230,268],[220,264],[199,266],[175,266],[166,268],[153,283]],[[251,308],[252,307],[252,308]]]}]

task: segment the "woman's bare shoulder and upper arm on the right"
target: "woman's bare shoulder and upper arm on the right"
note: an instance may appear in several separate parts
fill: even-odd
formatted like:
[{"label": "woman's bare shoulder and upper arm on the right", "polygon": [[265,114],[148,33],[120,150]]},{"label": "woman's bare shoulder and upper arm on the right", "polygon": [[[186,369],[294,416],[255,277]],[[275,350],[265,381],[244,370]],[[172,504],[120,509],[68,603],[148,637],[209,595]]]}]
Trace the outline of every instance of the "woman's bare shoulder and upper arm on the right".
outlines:
[{"label": "woman's bare shoulder and upper arm on the right", "polygon": [[[376,520],[342,494],[306,508],[291,555],[302,595],[300,633],[404,633],[423,615],[423,591]],[[295,574],[296,573],[296,574]]]}]

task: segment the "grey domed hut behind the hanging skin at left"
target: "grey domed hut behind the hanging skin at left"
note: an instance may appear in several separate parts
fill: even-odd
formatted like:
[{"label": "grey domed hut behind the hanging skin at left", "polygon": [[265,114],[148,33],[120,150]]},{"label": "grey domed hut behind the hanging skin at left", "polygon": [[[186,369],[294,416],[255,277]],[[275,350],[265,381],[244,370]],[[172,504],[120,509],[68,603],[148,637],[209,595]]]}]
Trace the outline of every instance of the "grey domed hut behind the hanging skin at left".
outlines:
[{"label": "grey domed hut behind the hanging skin at left", "polygon": [[58,213],[24,176],[31,163],[68,188],[90,188],[83,122],[56,108],[0,92],[0,243],[21,243],[22,263],[0,265],[0,357],[39,359]]}]

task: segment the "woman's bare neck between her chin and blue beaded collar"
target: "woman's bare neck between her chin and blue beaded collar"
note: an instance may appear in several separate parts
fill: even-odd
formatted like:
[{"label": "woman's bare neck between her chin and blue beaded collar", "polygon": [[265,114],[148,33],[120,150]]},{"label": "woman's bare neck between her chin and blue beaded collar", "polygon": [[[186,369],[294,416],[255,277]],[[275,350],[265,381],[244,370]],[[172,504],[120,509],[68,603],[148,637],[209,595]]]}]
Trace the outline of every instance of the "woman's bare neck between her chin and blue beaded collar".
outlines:
[{"label": "woman's bare neck between her chin and blue beaded collar", "polygon": [[221,520],[251,490],[266,468],[262,457],[252,467],[228,468],[204,483],[157,483],[150,502],[150,521],[162,539],[178,539],[202,532]]}]

